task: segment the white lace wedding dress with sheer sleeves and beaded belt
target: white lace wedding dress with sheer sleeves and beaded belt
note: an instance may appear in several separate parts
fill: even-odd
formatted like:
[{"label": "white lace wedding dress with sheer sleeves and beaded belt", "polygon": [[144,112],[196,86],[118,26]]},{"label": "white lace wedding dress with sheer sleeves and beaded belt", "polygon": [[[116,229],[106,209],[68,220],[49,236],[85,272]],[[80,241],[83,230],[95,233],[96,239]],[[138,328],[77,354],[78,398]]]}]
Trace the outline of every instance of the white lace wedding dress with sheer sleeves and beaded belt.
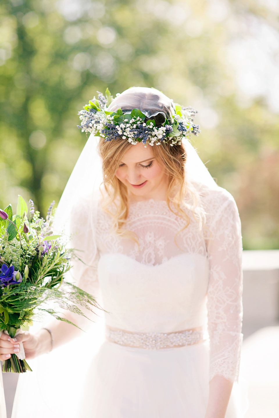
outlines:
[{"label": "white lace wedding dress with sheer sleeves and beaded belt", "polygon": [[[98,210],[94,267],[78,263],[75,275],[90,293],[100,288],[107,341],[90,365],[80,417],[203,418],[212,377],[238,379],[241,224],[228,192],[201,196],[201,231],[190,210],[184,228],[165,201],[131,204],[125,229],[138,243],[111,234]],[[73,232],[84,213],[79,206]],[[89,262],[82,233],[74,245]],[[239,416],[232,400],[228,416]]]}]

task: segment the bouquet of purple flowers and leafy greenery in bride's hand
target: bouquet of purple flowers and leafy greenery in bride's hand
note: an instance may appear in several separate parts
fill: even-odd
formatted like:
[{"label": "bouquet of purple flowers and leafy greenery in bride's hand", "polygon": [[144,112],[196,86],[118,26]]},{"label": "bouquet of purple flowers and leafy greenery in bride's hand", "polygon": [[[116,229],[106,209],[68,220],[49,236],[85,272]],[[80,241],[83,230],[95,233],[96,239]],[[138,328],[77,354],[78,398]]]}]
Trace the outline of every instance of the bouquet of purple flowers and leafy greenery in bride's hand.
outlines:
[{"label": "bouquet of purple flowers and leafy greenery in bride's hand", "polygon": [[[46,302],[58,303],[59,308],[83,316],[77,304],[90,311],[90,306],[97,307],[91,295],[64,280],[73,250],[67,249],[59,240],[61,236],[51,231],[54,202],[46,219],[35,211],[32,200],[29,205],[28,214],[26,202],[18,196],[16,214],[11,205],[0,210],[0,330],[12,338],[40,310],[72,324]],[[3,372],[27,370],[32,371],[24,354],[12,354],[3,362]]]}]

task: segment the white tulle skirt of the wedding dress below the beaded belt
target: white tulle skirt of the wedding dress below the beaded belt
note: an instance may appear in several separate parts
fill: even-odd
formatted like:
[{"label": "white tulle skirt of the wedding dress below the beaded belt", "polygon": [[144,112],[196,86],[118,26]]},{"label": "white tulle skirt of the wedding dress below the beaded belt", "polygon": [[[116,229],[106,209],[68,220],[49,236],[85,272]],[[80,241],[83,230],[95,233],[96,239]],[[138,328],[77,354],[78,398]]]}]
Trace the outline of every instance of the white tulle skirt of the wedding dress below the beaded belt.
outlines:
[{"label": "white tulle skirt of the wedding dress below the beaded belt", "polygon": [[[149,351],[105,342],[92,362],[79,418],[204,418],[207,342]],[[239,418],[234,388],[226,418]]]}]

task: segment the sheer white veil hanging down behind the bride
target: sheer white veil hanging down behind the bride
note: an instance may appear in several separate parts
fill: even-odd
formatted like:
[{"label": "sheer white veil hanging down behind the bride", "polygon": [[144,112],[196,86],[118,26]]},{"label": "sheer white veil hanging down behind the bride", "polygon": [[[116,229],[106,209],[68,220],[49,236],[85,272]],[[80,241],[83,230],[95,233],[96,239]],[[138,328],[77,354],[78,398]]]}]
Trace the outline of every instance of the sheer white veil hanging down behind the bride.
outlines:
[{"label": "sheer white veil hanging down behind the bride", "polygon": [[[64,231],[65,234],[69,235],[71,229],[70,219],[75,210],[74,208],[79,205],[79,202],[87,202],[85,206],[81,205],[80,212],[77,212],[82,216],[84,215],[84,208],[87,208],[89,215],[86,216],[85,214],[87,223],[83,224],[82,243],[80,243],[80,247],[88,255],[86,259],[87,265],[94,263],[98,252],[98,236],[95,232],[94,222],[97,217],[97,201],[100,198],[100,185],[102,183],[102,166],[97,153],[99,140],[100,138],[92,135],[87,140],[61,196],[55,220],[56,231]],[[218,186],[200,160],[195,149],[187,140],[185,140],[184,145],[187,151],[186,173],[188,180],[212,191],[218,191]],[[123,257],[126,256],[123,255]],[[78,272],[76,270],[75,281],[78,282],[82,278],[85,269],[85,267],[84,270],[79,269]],[[93,292],[94,286],[92,288]],[[102,306],[102,300],[99,300],[99,303]],[[34,329],[41,328],[41,326],[41,324],[36,324]],[[33,372],[25,373],[19,377],[12,418],[79,417],[82,410],[84,391],[88,390],[88,386],[91,384],[90,377],[95,367],[92,368],[92,364],[94,364],[93,359],[105,341],[104,328],[104,318],[100,314],[96,323],[92,324],[90,329],[81,337],[65,344],[63,347],[55,349],[49,354],[44,354],[30,361]],[[105,346],[108,356],[110,356],[110,349],[111,346]],[[182,348],[178,350],[182,350]],[[202,347],[199,350],[202,350]],[[77,353],[79,353],[78,356]],[[104,351],[102,355],[103,353]],[[100,356],[100,354],[97,355]],[[120,353],[120,357],[122,355],[123,351]],[[160,355],[163,356],[163,354]],[[179,351],[177,351],[177,356],[179,356]],[[107,360],[109,363],[110,359],[108,357]],[[204,362],[206,364],[206,357]],[[115,364],[111,364],[112,370],[113,367],[116,367]],[[118,372],[119,370],[115,369],[115,376]],[[127,372],[129,373],[129,370]],[[110,384],[111,382],[109,381],[108,385]],[[86,408],[83,410],[85,413],[88,413]],[[245,399],[243,403],[243,392],[235,383],[226,418],[241,418],[245,410],[246,405]],[[88,418],[107,417],[107,415],[86,416]],[[138,415],[134,415],[133,418],[136,418],[136,416]],[[155,416],[161,418],[161,415],[154,415],[153,418]],[[118,415],[115,415],[115,417],[118,417]],[[123,415],[123,417],[126,418],[126,415]],[[141,418],[147,418],[147,415],[141,416]]]}]

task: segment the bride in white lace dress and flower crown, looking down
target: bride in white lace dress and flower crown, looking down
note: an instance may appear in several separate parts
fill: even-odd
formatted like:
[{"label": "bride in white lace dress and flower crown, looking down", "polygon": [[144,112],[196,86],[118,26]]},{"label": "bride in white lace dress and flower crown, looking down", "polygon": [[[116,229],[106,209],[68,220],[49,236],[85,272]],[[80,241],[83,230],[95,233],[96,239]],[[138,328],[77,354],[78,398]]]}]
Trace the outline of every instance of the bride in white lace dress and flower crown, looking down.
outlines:
[{"label": "bride in white lace dress and flower crown, looking down", "polygon": [[[187,140],[198,132],[195,111],[156,89],[99,99],[80,112],[99,143],[92,134],[56,213],[79,250],[74,280],[94,295],[100,288],[105,309],[106,340],[86,366],[80,417],[239,417],[231,391],[242,341],[241,224]],[[33,358],[78,333],[56,321],[13,340],[2,334],[0,359],[20,342]],[[13,417],[31,417],[20,393]]]}]

